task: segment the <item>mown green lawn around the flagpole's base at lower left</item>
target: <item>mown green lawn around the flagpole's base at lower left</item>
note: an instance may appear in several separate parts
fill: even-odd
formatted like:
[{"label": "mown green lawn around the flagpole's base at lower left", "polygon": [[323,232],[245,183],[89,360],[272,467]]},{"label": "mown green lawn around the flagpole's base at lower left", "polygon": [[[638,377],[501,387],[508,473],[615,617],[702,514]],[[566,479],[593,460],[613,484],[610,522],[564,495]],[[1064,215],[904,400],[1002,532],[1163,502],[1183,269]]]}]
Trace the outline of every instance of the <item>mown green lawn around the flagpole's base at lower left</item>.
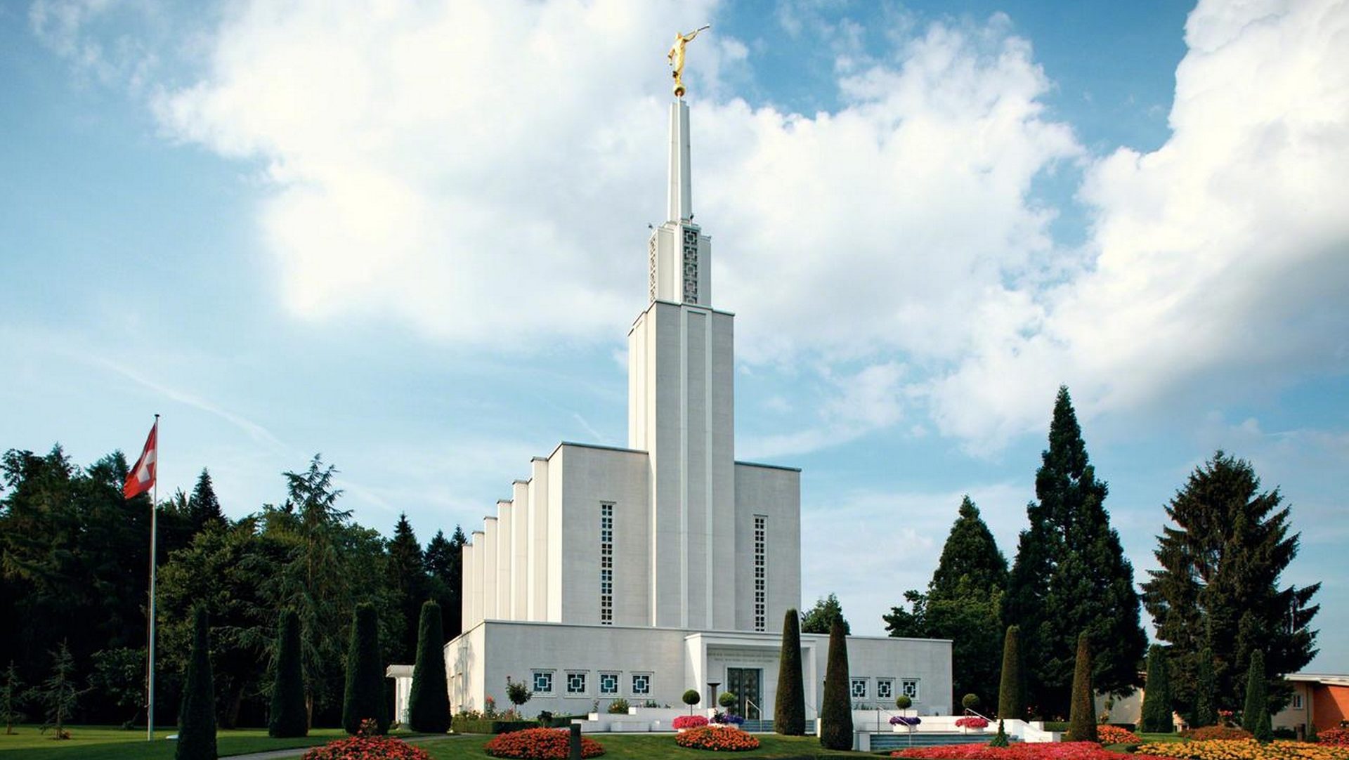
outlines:
[{"label": "mown green lawn around the flagpole's base at lower left", "polygon": [[[8,760],[171,760],[175,744],[165,737],[175,729],[155,730],[155,741],[146,741],[146,730],[123,730],[112,726],[69,726],[70,738],[55,741],[51,732],[38,733],[38,726],[16,726],[15,736],[0,732],[0,759]],[[221,757],[268,752],[293,747],[314,747],[347,736],[341,729],[313,729],[302,738],[271,738],[267,729],[221,730],[217,747]]]}]

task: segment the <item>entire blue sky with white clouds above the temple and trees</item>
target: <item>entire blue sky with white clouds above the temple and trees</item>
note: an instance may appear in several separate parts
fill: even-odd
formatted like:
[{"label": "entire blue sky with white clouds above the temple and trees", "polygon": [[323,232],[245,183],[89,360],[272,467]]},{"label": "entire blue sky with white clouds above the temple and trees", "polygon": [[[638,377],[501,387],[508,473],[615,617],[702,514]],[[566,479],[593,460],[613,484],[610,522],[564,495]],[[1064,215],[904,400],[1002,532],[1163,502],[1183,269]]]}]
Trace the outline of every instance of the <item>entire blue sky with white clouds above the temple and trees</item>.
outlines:
[{"label": "entire blue sky with white clouds above the temple and trees", "polygon": [[1248,458],[1349,672],[1344,3],[5,4],[0,446],[161,412],[162,495],[208,466],[240,516],[322,453],[425,540],[626,443],[701,23],[737,454],[803,468],[803,604],[881,633],[966,492],[1010,559],[1064,383],[1136,577]]}]

